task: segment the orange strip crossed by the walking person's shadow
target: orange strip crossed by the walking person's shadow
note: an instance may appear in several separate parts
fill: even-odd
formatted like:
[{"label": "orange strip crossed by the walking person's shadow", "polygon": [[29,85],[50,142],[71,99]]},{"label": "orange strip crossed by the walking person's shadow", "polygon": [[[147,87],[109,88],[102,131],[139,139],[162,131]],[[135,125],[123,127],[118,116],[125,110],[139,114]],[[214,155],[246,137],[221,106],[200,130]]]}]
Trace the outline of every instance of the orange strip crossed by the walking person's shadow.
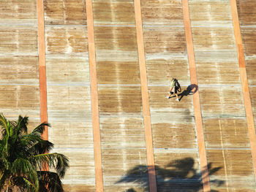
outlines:
[{"label": "orange strip crossed by the walking person's shadow", "polygon": [[[189,17],[189,2],[188,0],[182,0],[183,16],[184,16],[184,28],[187,42],[187,54],[189,58],[189,72],[191,84],[197,84],[197,69],[195,65],[195,53],[192,40],[192,30]],[[195,124],[197,129],[197,144],[200,158],[200,169],[202,173],[203,191],[211,191],[210,179],[207,168],[206,147],[203,136],[203,121],[200,109],[199,90],[193,94],[193,106],[195,112]]]}]

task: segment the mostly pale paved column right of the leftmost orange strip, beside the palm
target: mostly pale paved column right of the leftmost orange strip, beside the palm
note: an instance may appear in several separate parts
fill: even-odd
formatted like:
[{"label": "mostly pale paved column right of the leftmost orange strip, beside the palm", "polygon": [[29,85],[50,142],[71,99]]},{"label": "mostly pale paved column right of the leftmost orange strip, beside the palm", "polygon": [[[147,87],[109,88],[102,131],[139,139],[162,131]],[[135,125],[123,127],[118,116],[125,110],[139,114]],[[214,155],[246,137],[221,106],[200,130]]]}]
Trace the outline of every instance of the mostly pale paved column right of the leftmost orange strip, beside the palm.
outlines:
[{"label": "mostly pale paved column right of the leftmost orange strip, beside the palm", "polygon": [[45,1],[49,140],[69,157],[65,191],[95,191],[85,1]]}]

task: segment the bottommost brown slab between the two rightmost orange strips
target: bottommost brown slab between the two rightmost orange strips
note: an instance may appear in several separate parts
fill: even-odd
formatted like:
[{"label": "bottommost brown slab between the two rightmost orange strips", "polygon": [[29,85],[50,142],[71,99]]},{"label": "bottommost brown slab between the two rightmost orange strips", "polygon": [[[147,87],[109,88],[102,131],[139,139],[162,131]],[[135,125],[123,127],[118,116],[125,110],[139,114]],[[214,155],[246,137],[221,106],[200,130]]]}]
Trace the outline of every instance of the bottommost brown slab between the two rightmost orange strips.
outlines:
[{"label": "bottommost brown slab between the two rightmost orange strips", "polygon": [[211,180],[222,180],[223,185],[211,183],[211,188],[217,191],[253,191],[255,178],[253,174],[250,150],[208,150],[208,161],[212,168],[221,167],[210,176]]}]

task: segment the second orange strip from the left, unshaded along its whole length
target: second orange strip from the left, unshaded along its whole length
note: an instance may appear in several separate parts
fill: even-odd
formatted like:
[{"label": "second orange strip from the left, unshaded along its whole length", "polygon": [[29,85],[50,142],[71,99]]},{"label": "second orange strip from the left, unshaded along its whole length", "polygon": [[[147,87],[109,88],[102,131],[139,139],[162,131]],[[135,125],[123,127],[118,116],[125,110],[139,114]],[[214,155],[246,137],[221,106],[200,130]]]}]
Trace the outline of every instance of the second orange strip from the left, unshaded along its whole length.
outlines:
[{"label": "second orange strip from the left, unshaded along its whole length", "polygon": [[97,86],[97,69],[95,58],[95,43],[94,43],[94,17],[92,11],[92,1],[86,0],[86,17],[88,31],[88,46],[89,46],[89,66],[91,80],[91,114],[92,127],[94,134],[94,164],[95,164],[95,181],[96,191],[103,191],[102,177],[102,155],[99,131],[99,104],[98,104],[98,86]]}]

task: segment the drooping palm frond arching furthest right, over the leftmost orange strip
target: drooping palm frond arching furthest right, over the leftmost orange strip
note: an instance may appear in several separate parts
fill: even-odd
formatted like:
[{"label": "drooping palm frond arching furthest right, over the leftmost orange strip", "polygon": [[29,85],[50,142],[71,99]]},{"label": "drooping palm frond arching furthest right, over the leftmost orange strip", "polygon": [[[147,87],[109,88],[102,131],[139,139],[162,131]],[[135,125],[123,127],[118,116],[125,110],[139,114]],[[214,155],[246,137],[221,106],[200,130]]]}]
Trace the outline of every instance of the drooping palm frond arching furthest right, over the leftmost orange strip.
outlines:
[{"label": "drooping palm frond arching furthest right, over the leftmost orange strip", "polygon": [[39,154],[31,157],[31,161],[37,164],[37,168],[41,168],[45,164],[56,169],[59,177],[64,177],[67,168],[69,167],[69,160],[65,155],[60,153]]}]

